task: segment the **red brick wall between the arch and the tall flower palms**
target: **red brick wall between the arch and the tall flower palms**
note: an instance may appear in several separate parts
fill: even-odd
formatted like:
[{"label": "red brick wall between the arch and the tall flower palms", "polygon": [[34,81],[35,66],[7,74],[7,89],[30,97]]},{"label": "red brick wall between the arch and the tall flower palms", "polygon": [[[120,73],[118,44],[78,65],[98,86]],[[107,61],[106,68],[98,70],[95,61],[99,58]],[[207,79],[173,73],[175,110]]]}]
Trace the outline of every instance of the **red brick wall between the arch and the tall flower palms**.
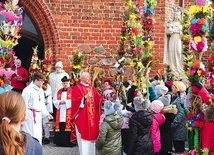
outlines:
[{"label": "red brick wall between the arch and the tall flower palms", "polygon": [[[106,54],[119,45],[121,12],[123,0],[73,0],[47,2],[52,11],[60,38],[60,54],[56,60],[62,60],[66,69],[70,68],[68,55],[80,44],[88,44],[92,49],[103,45]],[[87,56],[93,56],[93,52]]]}]

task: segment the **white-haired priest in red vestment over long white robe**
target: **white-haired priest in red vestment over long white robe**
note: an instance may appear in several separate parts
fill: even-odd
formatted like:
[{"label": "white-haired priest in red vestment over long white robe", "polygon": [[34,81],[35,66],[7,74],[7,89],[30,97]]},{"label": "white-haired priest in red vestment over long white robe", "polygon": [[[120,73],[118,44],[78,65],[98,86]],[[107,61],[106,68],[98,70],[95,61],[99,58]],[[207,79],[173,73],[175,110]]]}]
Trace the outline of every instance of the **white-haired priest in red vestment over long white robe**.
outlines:
[{"label": "white-haired priest in red vestment over long white robe", "polygon": [[[103,97],[91,84],[88,72],[82,72],[80,82],[72,91],[71,119],[76,128],[80,155],[95,155]],[[72,138],[72,137],[71,137]]]}]

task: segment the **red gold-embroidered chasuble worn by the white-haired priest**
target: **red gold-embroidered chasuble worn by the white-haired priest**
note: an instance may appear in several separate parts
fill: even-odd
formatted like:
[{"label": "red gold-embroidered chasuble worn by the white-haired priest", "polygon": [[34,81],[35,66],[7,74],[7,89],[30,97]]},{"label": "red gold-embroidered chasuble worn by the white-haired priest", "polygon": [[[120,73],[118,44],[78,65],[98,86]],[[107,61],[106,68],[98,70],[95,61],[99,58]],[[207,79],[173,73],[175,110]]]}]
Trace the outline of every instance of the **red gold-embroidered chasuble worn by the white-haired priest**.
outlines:
[{"label": "red gold-embroidered chasuble worn by the white-haired priest", "polygon": [[[87,98],[84,107],[81,108],[83,97],[90,91],[93,97]],[[84,86],[78,83],[73,88],[71,118],[84,140],[95,141],[99,135],[102,99],[102,95],[91,85]]]}]

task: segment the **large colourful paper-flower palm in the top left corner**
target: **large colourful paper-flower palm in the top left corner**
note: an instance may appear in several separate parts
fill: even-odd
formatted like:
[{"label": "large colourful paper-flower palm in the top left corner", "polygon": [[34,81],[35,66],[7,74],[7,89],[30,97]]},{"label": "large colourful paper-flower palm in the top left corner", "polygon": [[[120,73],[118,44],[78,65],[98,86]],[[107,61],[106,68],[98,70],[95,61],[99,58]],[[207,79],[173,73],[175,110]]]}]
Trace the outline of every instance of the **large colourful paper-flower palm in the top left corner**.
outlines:
[{"label": "large colourful paper-flower palm in the top left corner", "polygon": [[0,3],[0,57],[5,60],[5,67],[10,68],[14,61],[13,48],[18,44],[22,27],[23,8],[17,5],[18,1],[7,0]]}]

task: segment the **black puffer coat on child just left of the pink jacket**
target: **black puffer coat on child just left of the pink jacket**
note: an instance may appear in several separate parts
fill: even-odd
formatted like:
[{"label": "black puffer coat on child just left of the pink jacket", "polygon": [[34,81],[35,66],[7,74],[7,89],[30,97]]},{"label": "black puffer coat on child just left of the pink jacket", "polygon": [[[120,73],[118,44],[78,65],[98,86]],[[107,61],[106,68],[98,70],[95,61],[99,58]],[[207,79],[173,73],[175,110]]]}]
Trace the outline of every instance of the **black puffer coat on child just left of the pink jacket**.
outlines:
[{"label": "black puffer coat on child just left of the pink jacket", "polygon": [[128,155],[153,155],[153,142],[150,134],[152,113],[140,110],[129,121]]}]

